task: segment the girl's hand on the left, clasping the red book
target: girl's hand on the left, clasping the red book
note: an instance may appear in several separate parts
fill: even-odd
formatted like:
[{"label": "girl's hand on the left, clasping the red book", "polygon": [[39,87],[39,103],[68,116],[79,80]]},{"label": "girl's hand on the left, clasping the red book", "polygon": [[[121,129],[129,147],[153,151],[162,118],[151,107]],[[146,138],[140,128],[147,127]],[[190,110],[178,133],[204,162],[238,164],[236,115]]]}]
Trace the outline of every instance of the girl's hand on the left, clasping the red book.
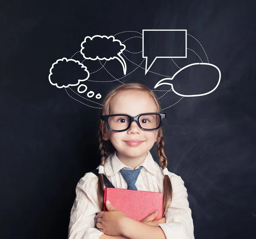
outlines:
[{"label": "girl's hand on the left, clasping the red book", "polygon": [[[108,202],[108,201],[107,201]],[[117,210],[110,203],[106,202],[108,212],[99,212],[96,227],[109,236],[121,236],[123,219],[127,217],[125,213]]]}]

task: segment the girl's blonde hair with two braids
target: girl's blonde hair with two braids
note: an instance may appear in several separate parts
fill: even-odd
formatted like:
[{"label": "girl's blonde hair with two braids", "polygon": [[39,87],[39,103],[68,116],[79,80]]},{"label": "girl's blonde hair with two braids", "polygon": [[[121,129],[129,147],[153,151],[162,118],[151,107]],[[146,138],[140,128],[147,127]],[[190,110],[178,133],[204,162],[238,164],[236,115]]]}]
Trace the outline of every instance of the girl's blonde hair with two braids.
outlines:
[{"label": "girl's blonde hair with two braids", "polygon": [[[155,101],[157,105],[157,113],[161,113],[161,108],[160,108],[160,103],[157,100],[157,96],[154,94],[153,91],[151,91],[148,87],[146,87],[143,84],[140,83],[126,83],[125,85],[119,85],[112,91],[110,91],[107,96],[104,99],[103,102],[103,108],[102,108],[102,115],[108,115],[109,114],[109,109],[110,109],[110,103],[112,98],[118,94],[121,91],[143,91],[149,94],[151,98]],[[107,141],[103,140],[103,135],[102,131],[106,132],[107,130],[107,125],[106,122],[100,119],[99,121],[99,150],[101,153],[102,157],[102,162],[100,165],[104,166],[105,161],[108,158],[109,152],[107,151],[108,148],[108,143],[111,144],[109,139]],[[164,138],[163,138],[163,130],[162,126],[159,128],[158,131],[158,136],[157,136],[157,153],[159,156],[159,161],[162,169],[167,168],[167,158],[163,150],[163,145],[164,145]],[[112,145],[112,144],[111,144]],[[97,189],[97,194],[98,194],[98,202],[99,202],[99,208],[101,211],[103,211],[103,203],[104,203],[104,182],[103,182],[103,176],[102,174],[99,174],[99,180],[98,180],[98,189]],[[163,215],[166,213],[167,208],[172,202],[172,184],[171,180],[168,175],[164,176],[163,179]]]}]

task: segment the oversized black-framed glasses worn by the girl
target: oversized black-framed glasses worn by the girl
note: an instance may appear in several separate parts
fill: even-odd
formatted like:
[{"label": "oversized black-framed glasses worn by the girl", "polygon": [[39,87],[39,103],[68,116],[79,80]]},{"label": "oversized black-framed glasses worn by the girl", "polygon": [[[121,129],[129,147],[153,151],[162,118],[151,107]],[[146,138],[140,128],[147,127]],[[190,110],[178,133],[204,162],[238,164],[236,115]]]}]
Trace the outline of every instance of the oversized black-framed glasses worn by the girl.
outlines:
[{"label": "oversized black-framed glasses worn by the girl", "polygon": [[122,132],[131,127],[133,121],[143,130],[153,131],[160,128],[162,120],[166,118],[165,113],[144,113],[133,117],[128,114],[101,115],[101,119],[107,122],[108,129],[113,132]]}]

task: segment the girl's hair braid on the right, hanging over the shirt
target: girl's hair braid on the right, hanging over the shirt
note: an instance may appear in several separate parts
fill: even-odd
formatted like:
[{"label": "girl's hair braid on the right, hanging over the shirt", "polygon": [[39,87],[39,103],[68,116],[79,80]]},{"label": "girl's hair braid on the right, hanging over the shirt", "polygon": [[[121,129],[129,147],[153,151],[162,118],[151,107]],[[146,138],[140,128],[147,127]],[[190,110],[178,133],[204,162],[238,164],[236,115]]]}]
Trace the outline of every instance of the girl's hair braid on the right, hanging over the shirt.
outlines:
[{"label": "girl's hair braid on the right, hanging over the shirt", "polygon": [[[164,138],[162,128],[159,129],[157,138],[157,153],[162,169],[167,168],[167,158],[163,150]],[[172,183],[169,175],[165,175],[163,179],[163,215],[172,202]]]}]

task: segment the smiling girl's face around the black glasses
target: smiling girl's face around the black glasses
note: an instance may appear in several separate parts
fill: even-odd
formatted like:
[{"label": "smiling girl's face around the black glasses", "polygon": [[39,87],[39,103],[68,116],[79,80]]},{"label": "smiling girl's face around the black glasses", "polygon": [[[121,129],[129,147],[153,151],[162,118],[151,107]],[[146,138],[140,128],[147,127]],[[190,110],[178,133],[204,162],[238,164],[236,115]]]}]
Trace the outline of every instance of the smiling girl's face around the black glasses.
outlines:
[{"label": "smiling girl's face around the black glasses", "polygon": [[[122,91],[116,94],[110,103],[109,114],[129,114],[137,116],[143,113],[157,113],[157,105],[148,93],[143,91]],[[158,130],[144,131],[137,122],[132,122],[127,131],[112,132],[107,129],[103,139],[110,139],[116,149],[117,156],[140,157],[146,156],[148,151],[157,141]],[[142,140],[143,143],[137,146],[128,145],[127,140]]]}]

